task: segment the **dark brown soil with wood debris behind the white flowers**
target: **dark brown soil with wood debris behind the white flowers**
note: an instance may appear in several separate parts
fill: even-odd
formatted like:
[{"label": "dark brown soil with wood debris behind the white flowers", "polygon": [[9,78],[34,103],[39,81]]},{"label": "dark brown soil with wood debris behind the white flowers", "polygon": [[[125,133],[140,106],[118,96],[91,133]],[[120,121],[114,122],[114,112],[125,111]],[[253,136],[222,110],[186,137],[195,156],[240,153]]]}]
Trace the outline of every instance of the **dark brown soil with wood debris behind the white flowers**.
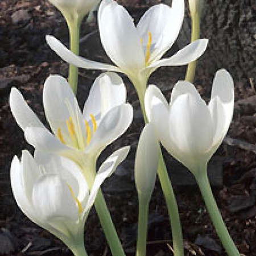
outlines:
[{"label": "dark brown soil with wood debris behind the white flowers", "polygon": [[[160,1],[119,2],[126,5],[136,21],[148,7]],[[213,40],[216,49],[222,49],[223,45],[226,49],[236,48],[232,48],[236,37],[237,40],[239,39],[236,43],[241,48],[228,52],[229,58],[223,56],[225,51],[213,52],[210,48],[209,53],[205,53],[200,60],[195,85],[205,100],[208,100],[213,75],[217,68],[228,69],[236,79],[236,107],[228,137],[236,138],[238,141],[231,143],[232,146],[224,142],[217,151],[216,154],[222,157],[223,184],[214,187],[213,190],[224,222],[240,253],[253,256],[256,255],[256,151],[254,148],[256,55],[254,54],[255,23],[253,26],[251,15],[255,16],[255,5],[253,1],[241,1],[241,5],[238,5],[237,1],[228,2],[234,2],[233,9],[232,6],[227,7],[225,4],[222,10],[218,1],[208,1],[208,8],[210,6],[216,10],[207,9],[209,18],[205,19],[210,20],[213,16],[214,24],[212,27],[203,27],[203,33],[209,38],[215,38]],[[241,6],[247,6],[250,15],[237,13],[237,10],[240,10],[237,8]],[[223,14],[222,11],[226,13]],[[238,15],[236,19],[241,20],[241,22],[237,21],[239,29],[233,28],[228,22],[233,17],[232,11],[235,13],[233,16]],[[221,22],[223,15],[226,19]],[[229,24],[225,30],[224,23]],[[186,32],[189,29],[188,15],[184,24],[187,24],[187,27],[184,26]],[[209,21],[206,21],[206,24],[208,25]],[[243,38],[240,36],[242,31],[247,31],[246,33],[252,36]],[[93,32],[91,36],[81,43],[81,55],[98,61],[109,61],[98,38],[96,19],[91,24],[82,25],[82,36],[90,32]],[[0,2],[0,255],[1,253],[3,255],[71,255],[63,243],[34,225],[20,212],[11,193],[9,181],[9,167],[13,156],[15,154],[20,156],[24,148],[32,151],[10,113],[11,86],[22,92],[31,108],[46,123],[42,108],[43,83],[50,74],[60,74],[65,77],[68,74],[68,64],[60,60],[47,46],[44,38],[48,34],[55,35],[61,42],[68,44],[65,20],[48,1],[2,0]],[[184,36],[181,37],[178,42],[184,43]],[[230,47],[229,42],[232,42]],[[213,44],[210,46],[213,47]],[[244,51],[240,51],[243,46],[246,46]],[[175,44],[171,52],[177,51],[178,47],[179,43]],[[249,55],[250,51],[252,51],[251,55]],[[230,55],[234,55],[234,58]],[[241,60],[243,67],[240,69]],[[233,72],[234,68],[235,72]],[[169,98],[175,82],[184,79],[185,70],[185,67],[161,68],[152,75],[150,84],[158,85]],[[80,105],[84,104],[90,86],[99,74],[98,71],[80,70],[78,89]],[[104,195],[126,254],[135,255],[138,202],[134,187],[133,165],[143,119],[133,86],[126,77],[123,79],[127,85],[128,101],[135,109],[134,122],[125,135],[104,151],[99,161],[104,160],[121,146],[132,146],[132,152],[119,169],[119,174],[114,175],[112,180],[107,180],[104,184]],[[166,160],[172,172],[172,166],[169,165],[172,160],[168,154]],[[175,193],[183,226],[185,255],[226,255],[196,185],[175,185]],[[147,255],[172,255],[170,224],[158,181],[150,204],[149,219]],[[90,256],[110,255],[94,209],[86,222],[85,245]]]}]

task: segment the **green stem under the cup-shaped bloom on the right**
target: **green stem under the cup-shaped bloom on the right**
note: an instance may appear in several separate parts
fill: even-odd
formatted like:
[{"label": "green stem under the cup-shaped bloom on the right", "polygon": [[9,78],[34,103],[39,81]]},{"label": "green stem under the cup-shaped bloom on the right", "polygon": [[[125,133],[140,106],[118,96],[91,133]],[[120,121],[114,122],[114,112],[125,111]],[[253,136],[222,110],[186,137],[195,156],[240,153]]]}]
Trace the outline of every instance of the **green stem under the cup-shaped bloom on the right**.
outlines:
[{"label": "green stem under the cup-shaped bloom on the right", "polygon": [[196,180],[199,184],[201,194],[204,198],[204,202],[207,206],[210,218],[212,218],[218,237],[220,237],[222,245],[224,246],[226,253],[228,253],[229,256],[240,256],[236,245],[234,245],[234,242],[232,241],[232,238],[230,237],[230,234],[226,229],[226,225],[222,220],[220,210],[218,209],[216,201],[214,199],[207,176],[207,166],[204,166],[201,169],[202,170],[199,170],[199,172],[197,172]]}]

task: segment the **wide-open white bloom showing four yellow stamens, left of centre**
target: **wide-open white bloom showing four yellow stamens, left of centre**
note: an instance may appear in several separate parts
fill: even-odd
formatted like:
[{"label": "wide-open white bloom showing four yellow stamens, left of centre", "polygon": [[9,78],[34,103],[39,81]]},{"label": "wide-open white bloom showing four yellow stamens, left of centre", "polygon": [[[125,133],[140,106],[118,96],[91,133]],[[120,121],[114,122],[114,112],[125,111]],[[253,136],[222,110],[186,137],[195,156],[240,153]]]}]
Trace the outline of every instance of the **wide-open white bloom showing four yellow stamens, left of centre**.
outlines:
[{"label": "wide-open white bloom showing four yellow stamens, left of centre", "polygon": [[61,76],[49,76],[43,88],[43,106],[50,133],[22,94],[16,88],[10,93],[11,112],[27,142],[40,151],[55,152],[80,165],[88,158],[96,160],[130,126],[133,108],[125,101],[121,77],[105,73],[94,81],[81,113],[68,82]]}]

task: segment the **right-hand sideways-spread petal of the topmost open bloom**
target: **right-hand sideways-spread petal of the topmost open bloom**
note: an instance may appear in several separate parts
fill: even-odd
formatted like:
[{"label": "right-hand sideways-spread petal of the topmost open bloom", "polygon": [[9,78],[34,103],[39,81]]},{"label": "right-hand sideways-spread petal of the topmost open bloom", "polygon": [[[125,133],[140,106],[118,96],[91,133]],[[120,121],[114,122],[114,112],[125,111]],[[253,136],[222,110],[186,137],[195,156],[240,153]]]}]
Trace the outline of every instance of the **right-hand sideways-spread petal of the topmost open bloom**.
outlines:
[{"label": "right-hand sideways-spread petal of the topmost open bloom", "polygon": [[168,59],[162,59],[154,61],[147,68],[159,68],[163,66],[180,66],[186,65],[191,61],[198,59],[207,48],[208,39],[199,39],[193,43],[188,44],[188,46],[182,48],[175,55]]}]

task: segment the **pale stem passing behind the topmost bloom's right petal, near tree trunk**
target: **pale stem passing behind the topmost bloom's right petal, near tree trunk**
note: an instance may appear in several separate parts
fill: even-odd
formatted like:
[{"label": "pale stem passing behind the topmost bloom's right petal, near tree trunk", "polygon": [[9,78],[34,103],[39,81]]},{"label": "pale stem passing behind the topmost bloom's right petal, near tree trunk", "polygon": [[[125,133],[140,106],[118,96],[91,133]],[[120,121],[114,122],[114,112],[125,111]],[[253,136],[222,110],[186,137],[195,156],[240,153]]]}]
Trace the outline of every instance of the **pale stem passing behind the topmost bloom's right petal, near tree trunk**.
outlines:
[{"label": "pale stem passing behind the topmost bloom's right petal, near tree trunk", "polygon": [[[191,42],[196,41],[200,38],[200,14],[192,14],[192,32],[191,32]],[[193,82],[196,75],[196,67],[197,67],[197,60],[192,61],[188,64],[187,74],[186,74],[186,81]]]}]

